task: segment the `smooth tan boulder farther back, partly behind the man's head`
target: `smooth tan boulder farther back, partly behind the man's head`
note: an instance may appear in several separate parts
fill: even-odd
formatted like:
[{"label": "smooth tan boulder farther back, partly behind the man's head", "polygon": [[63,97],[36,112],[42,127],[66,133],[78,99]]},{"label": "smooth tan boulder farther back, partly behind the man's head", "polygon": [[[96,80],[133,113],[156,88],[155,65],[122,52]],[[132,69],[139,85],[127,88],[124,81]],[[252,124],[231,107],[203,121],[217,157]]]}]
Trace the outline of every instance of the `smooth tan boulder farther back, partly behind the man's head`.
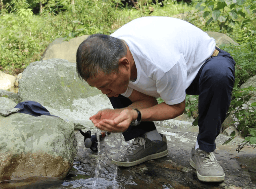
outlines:
[{"label": "smooth tan boulder farther back, partly behind the man's head", "polygon": [[65,38],[55,39],[44,51],[41,60],[49,60],[53,58],[65,59],[69,62],[76,62],[77,48],[89,35],[75,37],[69,41],[64,41]]}]

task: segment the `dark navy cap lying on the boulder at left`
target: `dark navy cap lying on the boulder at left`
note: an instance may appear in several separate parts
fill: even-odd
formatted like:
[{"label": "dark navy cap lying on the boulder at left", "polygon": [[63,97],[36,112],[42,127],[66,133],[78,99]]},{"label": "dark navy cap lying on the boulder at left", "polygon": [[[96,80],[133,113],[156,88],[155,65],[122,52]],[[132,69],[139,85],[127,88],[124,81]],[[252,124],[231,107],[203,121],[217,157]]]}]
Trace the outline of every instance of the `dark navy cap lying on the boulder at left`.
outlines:
[{"label": "dark navy cap lying on the boulder at left", "polygon": [[34,101],[20,102],[15,106],[15,108],[20,109],[17,113],[29,114],[31,116],[42,116],[42,115],[53,116],[40,103],[34,102]]}]

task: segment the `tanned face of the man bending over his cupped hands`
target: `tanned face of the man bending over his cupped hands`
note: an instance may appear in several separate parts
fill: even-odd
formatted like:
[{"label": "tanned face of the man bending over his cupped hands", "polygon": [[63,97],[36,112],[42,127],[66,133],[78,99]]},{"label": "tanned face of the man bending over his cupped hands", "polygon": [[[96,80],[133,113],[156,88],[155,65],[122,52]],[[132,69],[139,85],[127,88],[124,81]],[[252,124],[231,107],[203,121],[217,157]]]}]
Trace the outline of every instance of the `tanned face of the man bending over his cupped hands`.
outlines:
[{"label": "tanned face of the man bending over his cupped hands", "polygon": [[127,90],[129,80],[129,71],[119,66],[118,73],[106,75],[100,71],[95,77],[89,78],[86,82],[90,86],[101,90],[103,94],[107,94],[108,97],[118,97],[119,94]]}]

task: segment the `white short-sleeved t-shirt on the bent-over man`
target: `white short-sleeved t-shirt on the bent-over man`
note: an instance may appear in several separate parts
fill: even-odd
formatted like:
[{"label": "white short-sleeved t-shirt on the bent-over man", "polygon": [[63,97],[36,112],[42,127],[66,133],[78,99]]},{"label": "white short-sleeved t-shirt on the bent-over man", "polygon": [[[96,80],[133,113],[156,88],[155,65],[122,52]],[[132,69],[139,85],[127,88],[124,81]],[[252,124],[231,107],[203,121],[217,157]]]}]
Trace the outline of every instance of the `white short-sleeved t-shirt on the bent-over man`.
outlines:
[{"label": "white short-sleeved t-shirt on the bent-over man", "polygon": [[137,68],[136,81],[122,95],[134,89],[169,105],[185,99],[185,89],[216,46],[201,29],[171,17],[137,18],[111,36],[126,42]]}]

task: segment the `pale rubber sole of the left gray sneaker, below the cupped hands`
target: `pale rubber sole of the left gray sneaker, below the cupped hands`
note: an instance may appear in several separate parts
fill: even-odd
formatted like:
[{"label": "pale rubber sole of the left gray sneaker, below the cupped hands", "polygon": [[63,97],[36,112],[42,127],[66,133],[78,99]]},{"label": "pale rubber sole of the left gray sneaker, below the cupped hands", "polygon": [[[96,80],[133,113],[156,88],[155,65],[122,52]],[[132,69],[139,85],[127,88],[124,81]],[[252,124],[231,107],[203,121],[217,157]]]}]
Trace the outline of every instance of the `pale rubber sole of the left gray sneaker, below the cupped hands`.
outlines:
[{"label": "pale rubber sole of the left gray sneaker, below the cupped hands", "polygon": [[156,154],[151,154],[151,155],[148,155],[144,158],[141,158],[139,160],[132,161],[132,162],[120,162],[120,161],[115,161],[115,160],[112,159],[112,163],[117,165],[117,166],[120,166],[120,167],[131,167],[131,166],[138,165],[138,164],[143,163],[143,162],[148,161],[148,160],[162,158],[164,156],[167,156],[168,151],[169,150],[167,149],[163,152],[159,152],[159,153],[156,153]]}]

